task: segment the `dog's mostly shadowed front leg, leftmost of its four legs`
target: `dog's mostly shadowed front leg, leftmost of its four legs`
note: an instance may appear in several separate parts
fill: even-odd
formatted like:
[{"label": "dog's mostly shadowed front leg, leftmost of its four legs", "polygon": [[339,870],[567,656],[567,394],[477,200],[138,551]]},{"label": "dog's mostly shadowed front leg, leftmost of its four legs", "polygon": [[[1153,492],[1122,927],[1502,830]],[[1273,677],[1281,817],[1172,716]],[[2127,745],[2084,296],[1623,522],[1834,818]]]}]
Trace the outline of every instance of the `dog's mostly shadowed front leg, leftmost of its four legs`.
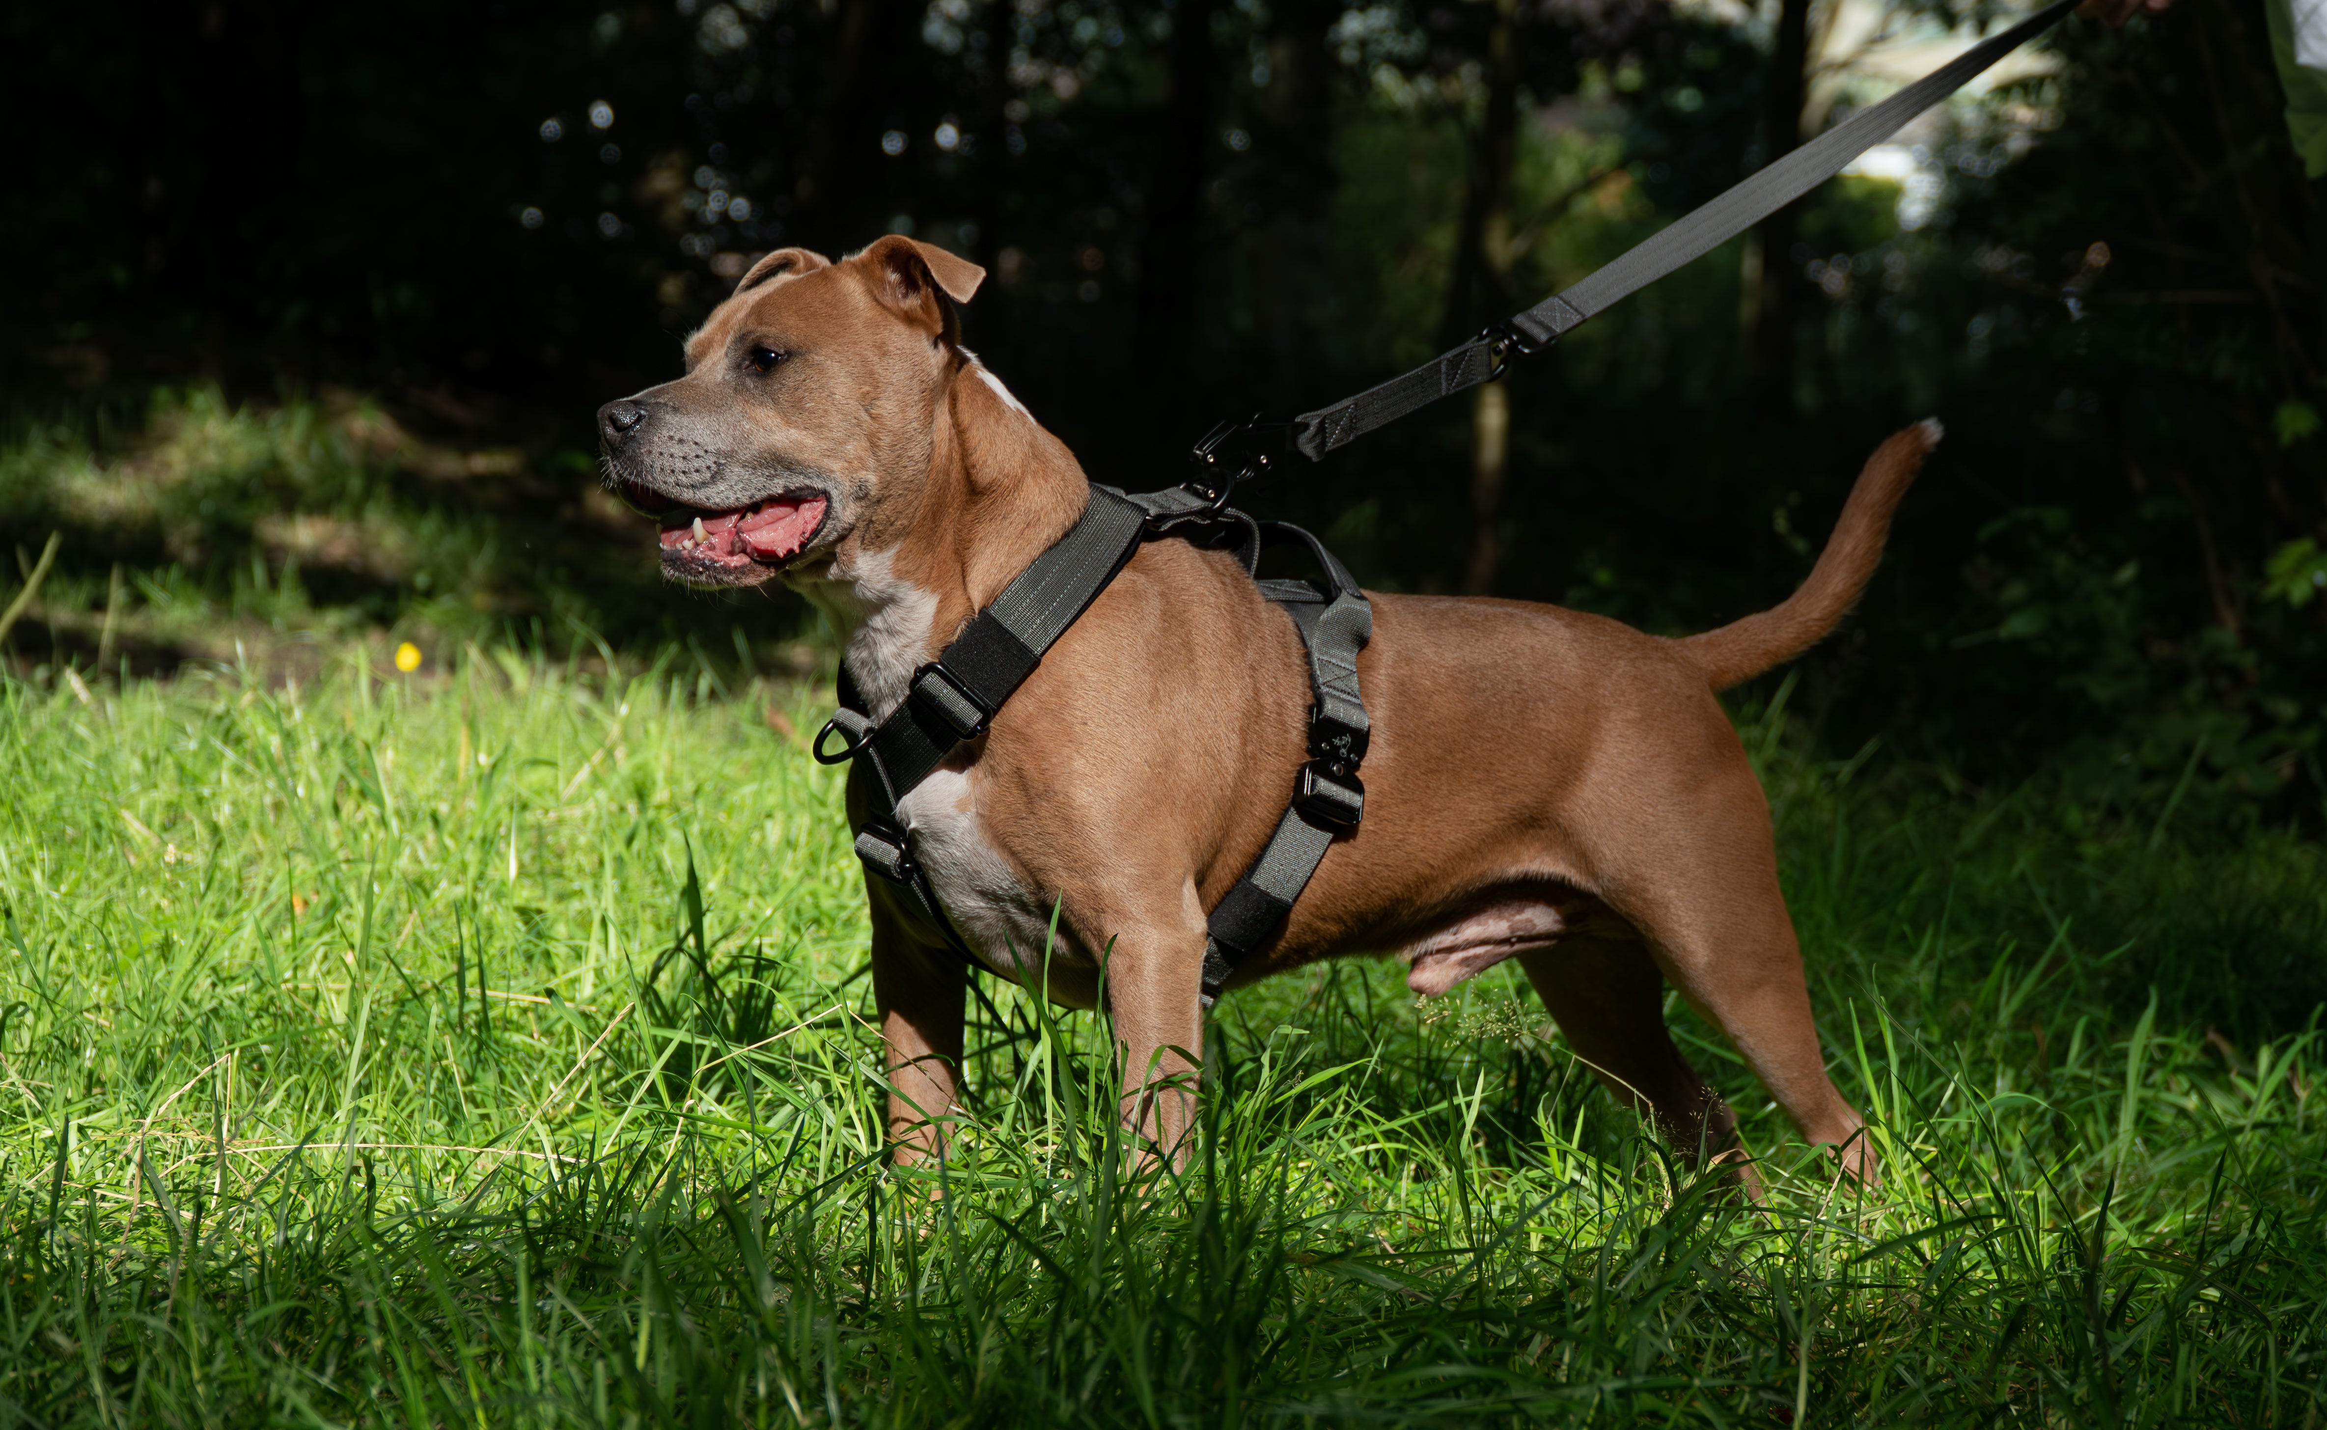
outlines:
[{"label": "dog's mostly shadowed front leg, leftmost of its four legs", "polygon": [[917,944],[873,900],[873,1002],[889,1046],[889,1142],[898,1163],[945,1153],[961,1079],[961,960]]}]

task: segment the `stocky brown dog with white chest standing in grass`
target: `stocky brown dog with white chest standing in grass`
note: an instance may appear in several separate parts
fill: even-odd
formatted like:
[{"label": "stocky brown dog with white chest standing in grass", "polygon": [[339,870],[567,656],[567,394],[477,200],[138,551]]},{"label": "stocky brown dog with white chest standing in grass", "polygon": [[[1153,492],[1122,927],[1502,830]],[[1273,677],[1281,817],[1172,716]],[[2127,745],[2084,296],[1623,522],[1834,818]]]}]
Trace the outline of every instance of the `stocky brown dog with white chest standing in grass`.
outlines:
[{"label": "stocky brown dog with white chest standing in grass", "polygon": [[[752,267],[686,339],[686,377],[600,412],[610,479],[663,514],[663,570],[782,574],[847,637],[870,709],[1075,523],[1075,458],[956,342],[984,272],[884,237],[842,263]],[[1785,1114],[1873,1174],[1827,1079],[1769,805],[1715,691],[1789,660],[1857,600],[1938,439],[1885,442],[1785,605],[1687,639],[1515,600],[1373,595],[1366,821],[1236,984],[1396,951],[1445,993],[1520,958],[1568,1044],[1680,1149],[1734,1118],[1664,1028],[1680,988]],[[1189,1125],[1205,909],[1252,863],[1305,758],[1298,635],[1243,567],[1177,539],[1131,565],[898,816],[963,939],[1115,1018],[1126,1104],[1161,1146]],[[873,888],[873,986],[898,1142],[954,1109],[966,972]],[[1101,956],[1108,953],[1101,988]]]}]

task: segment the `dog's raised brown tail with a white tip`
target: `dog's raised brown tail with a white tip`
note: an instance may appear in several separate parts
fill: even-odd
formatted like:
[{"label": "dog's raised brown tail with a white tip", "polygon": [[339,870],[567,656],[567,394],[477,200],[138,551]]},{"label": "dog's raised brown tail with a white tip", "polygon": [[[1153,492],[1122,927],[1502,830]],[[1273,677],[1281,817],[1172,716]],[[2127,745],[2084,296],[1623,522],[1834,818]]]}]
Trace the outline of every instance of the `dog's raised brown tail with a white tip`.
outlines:
[{"label": "dog's raised brown tail with a white tip", "polygon": [[1850,500],[1843,502],[1843,516],[1834,523],[1827,549],[1817,553],[1810,579],[1794,595],[1766,612],[1678,642],[1715,691],[1750,681],[1827,639],[1827,632],[1857,605],[1869,577],[1876,574],[1892,512],[1899,509],[1906,488],[1915,484],[1915,472],[1922,470],[1922,458],[1938,446],[1938,421],[1924,419],[1903,432],[1892,432],[1866,458],[1866,470],[1850,488]]}]

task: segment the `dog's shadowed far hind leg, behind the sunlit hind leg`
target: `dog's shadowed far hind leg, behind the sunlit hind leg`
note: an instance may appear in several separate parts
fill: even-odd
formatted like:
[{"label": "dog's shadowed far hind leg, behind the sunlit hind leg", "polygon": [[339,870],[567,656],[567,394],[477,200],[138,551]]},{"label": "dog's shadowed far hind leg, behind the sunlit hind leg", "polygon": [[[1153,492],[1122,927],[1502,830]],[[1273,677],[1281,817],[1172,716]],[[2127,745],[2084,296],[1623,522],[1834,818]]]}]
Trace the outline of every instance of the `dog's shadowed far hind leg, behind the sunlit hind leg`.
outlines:
[{"label": "dog's shadowed far hind leg, behind the sunlit hind leg", "polygon": [[[1648,944],[1571,935],[1520,953],[1527,981],[1575,1056],[1627,1107],[1650,1114],[1685,1158],[1717,1158],[1736,1139],[1729,1107],[1689,1067],[1664,1025],[1664,974]],[[1752,1186],[1752,1170],[1741,1167]]]}]

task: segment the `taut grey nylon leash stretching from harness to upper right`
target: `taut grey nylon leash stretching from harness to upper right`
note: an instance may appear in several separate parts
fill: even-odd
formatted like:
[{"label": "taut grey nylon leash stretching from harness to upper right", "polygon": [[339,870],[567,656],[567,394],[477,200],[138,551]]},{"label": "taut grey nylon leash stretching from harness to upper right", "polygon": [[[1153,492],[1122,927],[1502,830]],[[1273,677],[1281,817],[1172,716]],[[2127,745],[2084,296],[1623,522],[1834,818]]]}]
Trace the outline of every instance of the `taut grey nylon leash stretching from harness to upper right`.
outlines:
[{"label": "taut grey nylon leash stretching from harness to upper right", "polygon": [[[1533,353],[1550,346],[1564,333],[1575,330],[1580,323],[1606,312],[1622,298],[1638,293],[1675,267],[1703,258],[1762,219],[1769,219],[1785,205],[1838,174],[1852,158],[1899,133],[1906,121],[1945,100],[1976,74],[2036,35],[2050,30],[2062,21],[2062,16],[2076,9],[2078,2],[2080,0],[2057,0],[2011,30],[1973,44],[1962,56],[1948,60],[1938,70],[1931,70],[1880,105],[1862,109],[1845,123],[1817,135],[1778,163],[1764,165],[1750,179],[1734,184],[1710,202],[1659,228],[1620,258],[1596,267],[1580,284],[1545,298],[1536,307],[1503,323],[1494,323],[1471,342],[1431,358],[1403,377],[1366,388],[1354,398],[1343,398],[1340,402],[1319,407],[1317,412],[1303,412],[1291,421],[1291,430],[1287,432],[1291,446],[1305,458],[1319,460],[1336,446],[1364,437],[1380,426],[1394,423],[1440,398],[1452,398],[1464,388],[1501,377],[1513,351]],[[1210,444],[1217,444],[1219,439],[1219,430],[1208,437]],[[1205,453],[1208,449],[1198,449],[1198,456]]]}]

